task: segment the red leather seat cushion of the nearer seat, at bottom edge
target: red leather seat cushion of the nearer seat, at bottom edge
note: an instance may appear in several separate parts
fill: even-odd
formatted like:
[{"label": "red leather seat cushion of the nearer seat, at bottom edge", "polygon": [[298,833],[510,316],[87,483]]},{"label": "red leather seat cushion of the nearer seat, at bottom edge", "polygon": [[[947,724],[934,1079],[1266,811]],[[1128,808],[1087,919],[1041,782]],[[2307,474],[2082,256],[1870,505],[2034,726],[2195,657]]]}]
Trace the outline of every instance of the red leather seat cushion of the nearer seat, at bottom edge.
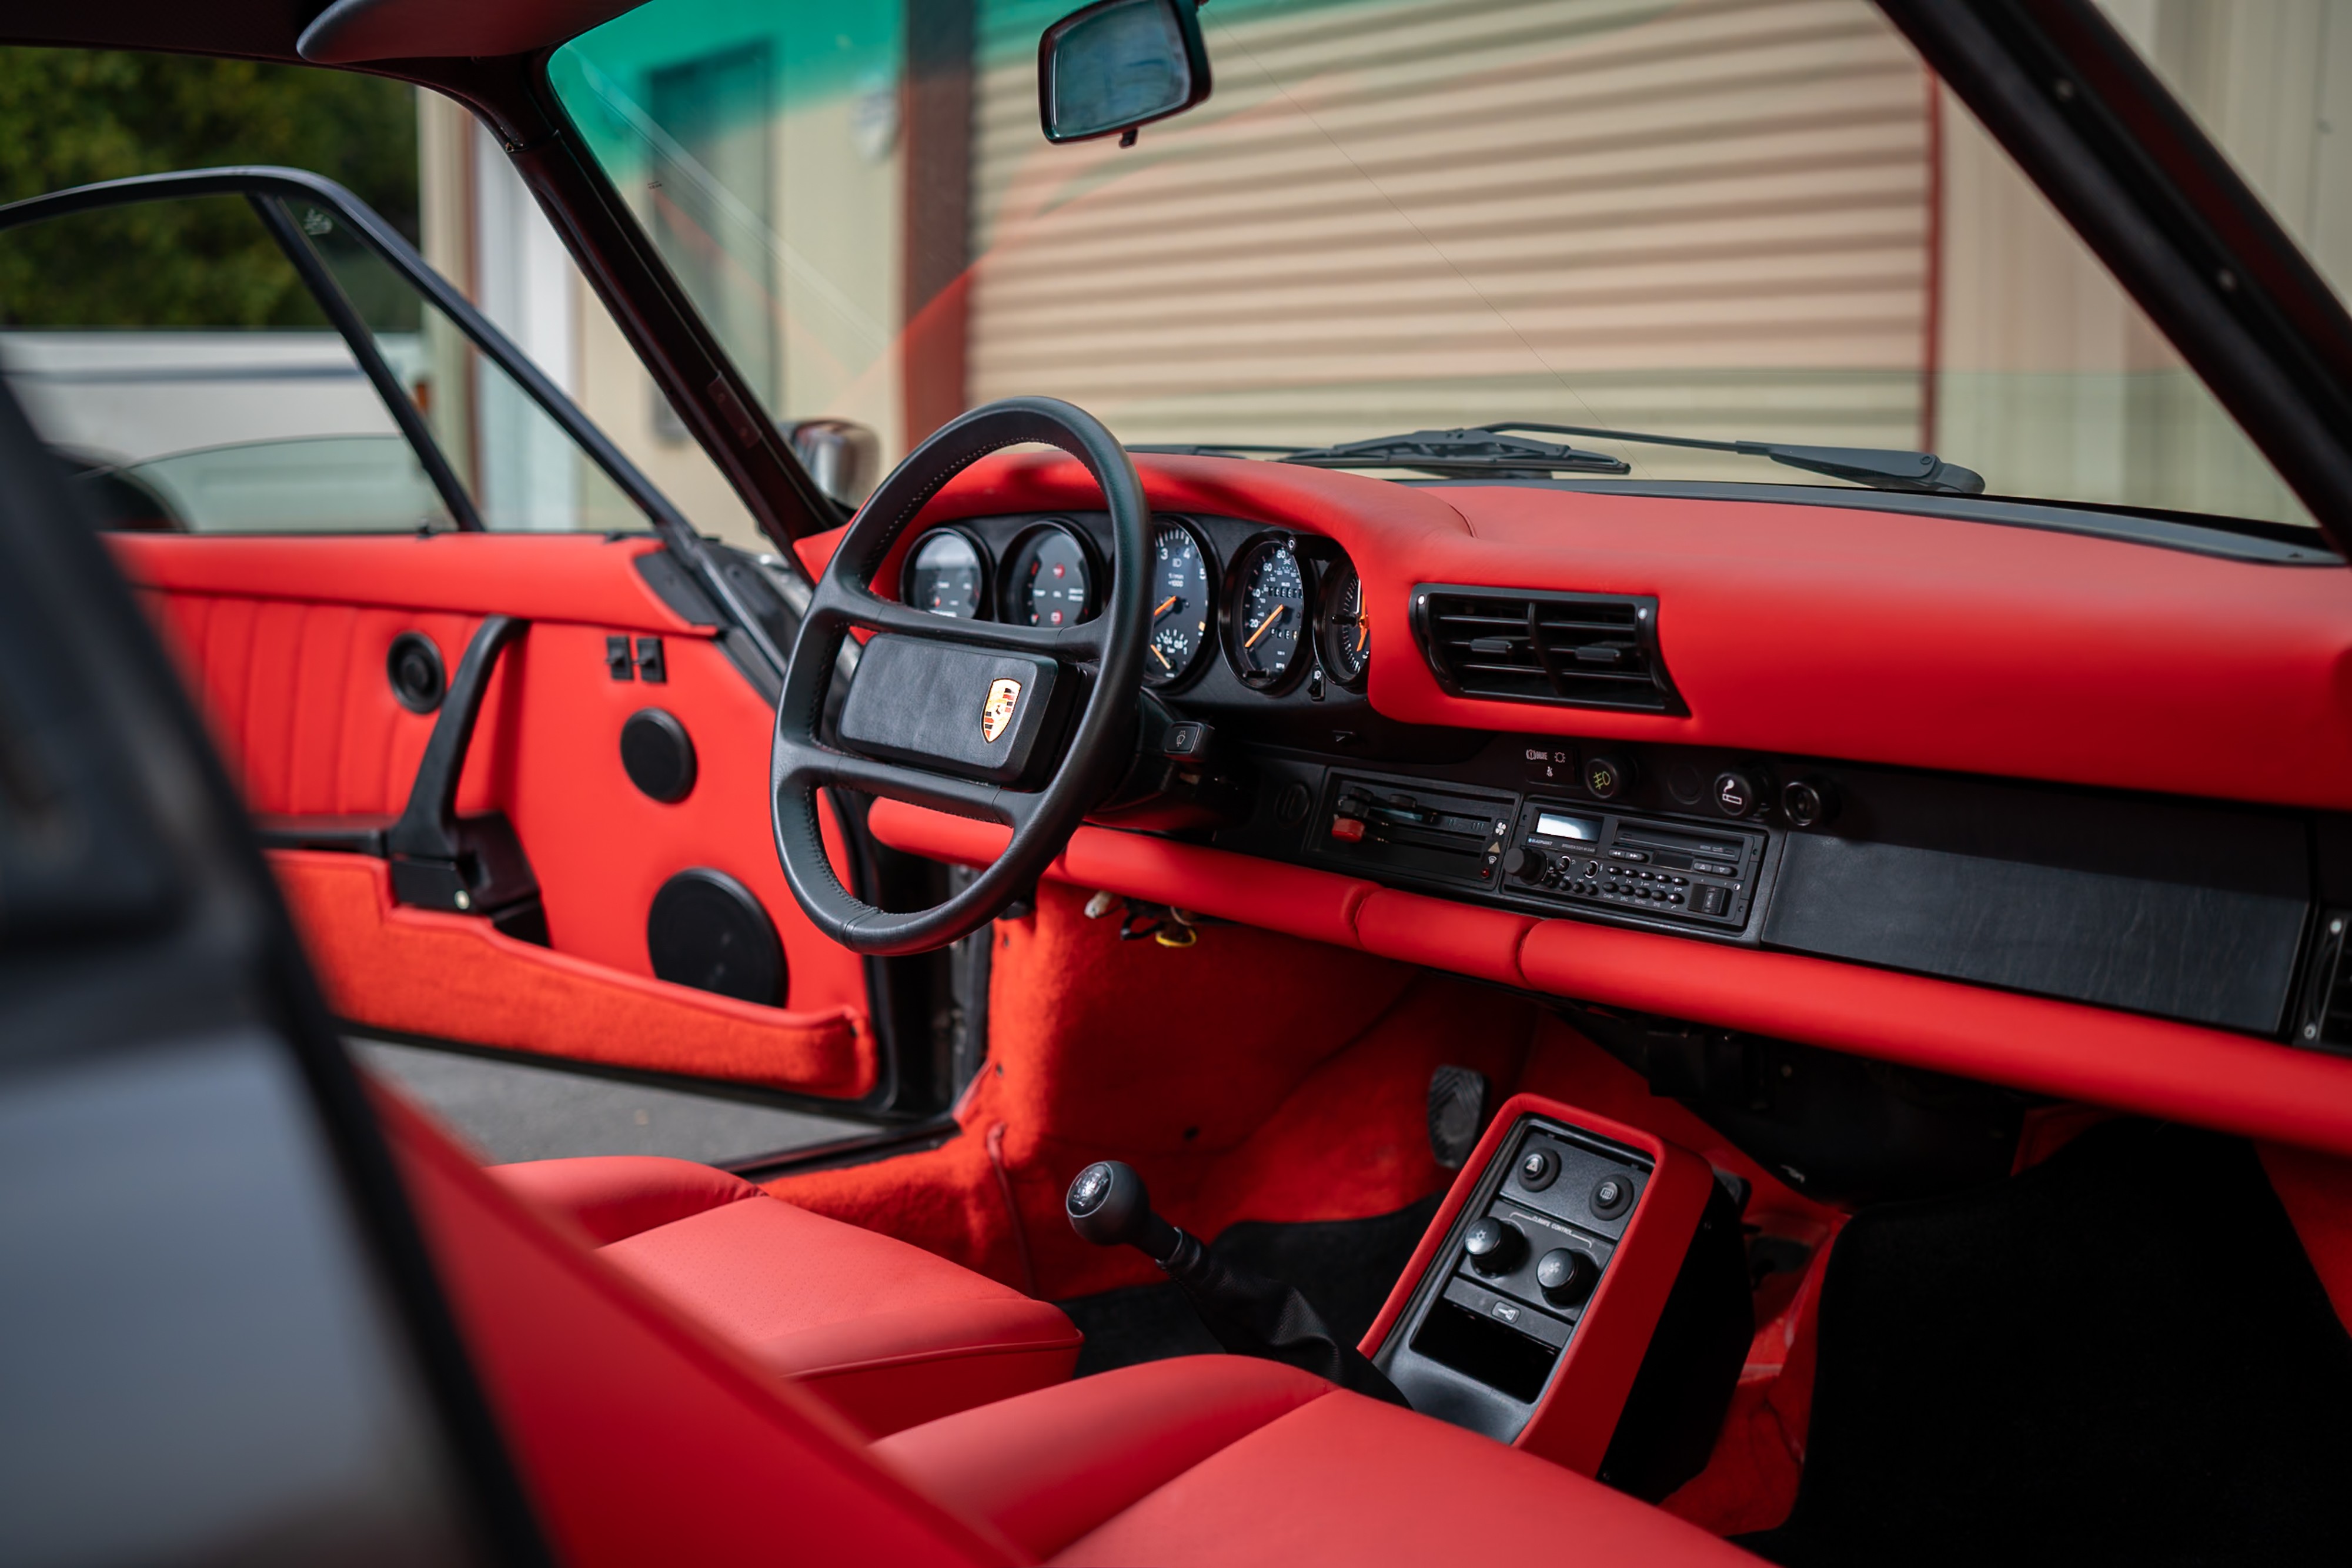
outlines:
[{"label": "red leather seat cushion of the nearer seat, at bottom edge", "polygon": [[1571,1469],[1247,1356],[1129,1366],[873,1453],[1051,1563],[1755,1563]]}]

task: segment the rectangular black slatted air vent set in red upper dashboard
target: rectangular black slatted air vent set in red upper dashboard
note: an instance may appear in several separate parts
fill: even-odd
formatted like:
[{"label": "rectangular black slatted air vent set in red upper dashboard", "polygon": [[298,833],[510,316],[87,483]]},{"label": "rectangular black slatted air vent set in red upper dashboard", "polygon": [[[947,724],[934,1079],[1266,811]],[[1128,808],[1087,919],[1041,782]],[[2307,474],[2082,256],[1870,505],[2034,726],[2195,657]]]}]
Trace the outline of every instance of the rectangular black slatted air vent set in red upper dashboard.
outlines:
[{"label": "rectangular black slatted air vent set in red upper dashboard", "polygon": [[1437,682],[1461,696],[1689,712],[1658,656],[1649,597],[1423,583],[1414,635]]}]

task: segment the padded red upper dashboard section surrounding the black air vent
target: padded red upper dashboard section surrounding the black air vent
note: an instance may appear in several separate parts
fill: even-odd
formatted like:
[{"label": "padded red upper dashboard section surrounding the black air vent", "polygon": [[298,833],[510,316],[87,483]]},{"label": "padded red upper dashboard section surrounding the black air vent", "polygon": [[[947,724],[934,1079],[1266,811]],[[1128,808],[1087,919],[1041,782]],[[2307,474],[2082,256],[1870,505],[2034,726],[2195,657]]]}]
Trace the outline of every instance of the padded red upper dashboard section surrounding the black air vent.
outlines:
[{"label": "padded red upper dashboard section surrounding the black air vent", "polygon": [[[1136,468],[1155,508],[1338,541],[1364,578],[1371,705],[1392,719],[2352,809],[2340,567],[1844,505],[1428,489],[1209,456]],[[1004,454],[924,517],[1098,505],[1075,461]],[[811,569],[833,538],[802,541]],[[1411,651],[1418,583],[1656,595],[1691,712],[1449,696]]]}]

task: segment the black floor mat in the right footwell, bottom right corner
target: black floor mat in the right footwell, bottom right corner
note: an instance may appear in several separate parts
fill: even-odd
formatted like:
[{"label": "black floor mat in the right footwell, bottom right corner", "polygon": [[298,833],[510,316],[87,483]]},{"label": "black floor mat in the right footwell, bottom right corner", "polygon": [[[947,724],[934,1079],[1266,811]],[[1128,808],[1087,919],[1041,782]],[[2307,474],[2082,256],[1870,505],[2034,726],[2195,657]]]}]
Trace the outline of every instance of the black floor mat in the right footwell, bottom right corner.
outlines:
[{"label": "black floor mat in the right footwell, bottom right corner", "polygon": [[2352,1563],[2352,1338],[2237,1138],[1863,1211],[1818,1366],[1778,1563]]}]

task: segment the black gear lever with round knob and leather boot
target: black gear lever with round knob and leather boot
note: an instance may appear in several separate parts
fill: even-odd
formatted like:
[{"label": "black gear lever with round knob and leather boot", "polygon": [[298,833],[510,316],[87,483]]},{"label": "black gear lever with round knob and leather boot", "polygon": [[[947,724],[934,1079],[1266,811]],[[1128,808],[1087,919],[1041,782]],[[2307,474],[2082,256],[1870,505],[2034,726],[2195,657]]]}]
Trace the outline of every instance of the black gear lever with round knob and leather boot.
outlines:
[{"label": "black gear lever with round knob and leather boot", "polygon": [[1063,1201],[1070,1229],[1094,1246],[1131,1246],[1160,1265],[1216,1342],[1237,1356],[1284,1361],[1329,1382],[1402,1406],[1404,1394],[1355,1345],[1343,1345],[1308,1298],[1279,1279],[1230,1269],[1209,1248],[1152,1213],[1136,1168],[1098,1159]]}]

